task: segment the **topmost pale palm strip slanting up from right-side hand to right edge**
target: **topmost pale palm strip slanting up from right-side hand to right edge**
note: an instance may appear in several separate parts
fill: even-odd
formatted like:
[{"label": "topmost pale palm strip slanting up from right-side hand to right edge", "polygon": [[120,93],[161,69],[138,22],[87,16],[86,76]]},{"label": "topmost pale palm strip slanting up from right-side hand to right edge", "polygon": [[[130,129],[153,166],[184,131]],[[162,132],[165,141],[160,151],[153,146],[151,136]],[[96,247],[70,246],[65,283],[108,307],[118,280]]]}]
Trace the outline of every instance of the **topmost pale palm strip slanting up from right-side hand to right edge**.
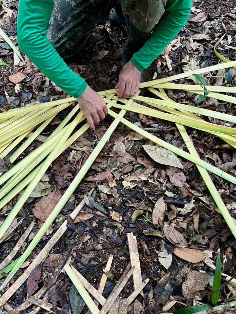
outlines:
[{"label": "topmost pale palm strip slanting up from right-side hand to right edge", "polygon": [[197,69],[197,70],[193,70],[193,71],[184,72],[184,73],[180,73],[180,74],[177,74],[177,75],[169,76],[167,78],[159,78],[159,79],[156,79],[156,80],[153,80],[153,81],[144,82],[144,83],[141,83],[139,85],[139,87],[140,88],[149,87],[149,86],[153,86],[153,85],[160,84],[160,83],[166,83],[166,82],[175,81],[177,79],[188,78],[188,76],[190,76],[192,74],[202,74],[202,73],[212,72],[212,71],[216,71],[216,70],[232,68],[232,67],[235,67],[235,66],[236,66],[236,61],[231,61],[231,62],[226,62],[226,63],[219,63],[219,64],[213,65],[211,67],[201,68],[201,69]]}]

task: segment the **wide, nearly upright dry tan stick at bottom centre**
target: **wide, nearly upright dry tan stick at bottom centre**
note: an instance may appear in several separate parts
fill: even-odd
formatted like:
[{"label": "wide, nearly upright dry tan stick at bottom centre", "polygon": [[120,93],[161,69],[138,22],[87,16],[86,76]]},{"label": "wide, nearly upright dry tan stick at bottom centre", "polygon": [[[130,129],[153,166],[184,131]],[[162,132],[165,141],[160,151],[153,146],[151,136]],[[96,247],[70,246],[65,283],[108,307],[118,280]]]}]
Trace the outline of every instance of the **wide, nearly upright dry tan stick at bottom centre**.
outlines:
[{"label": "wide, nearly upright dry tan stick at bottom centre", "polygon": [[[133,235],[132,232],[127,233],[127,239],[128,239],[128,246],[129,246],[129,255],[130,255],[130,262],[131,266],[135,266],[135,271],[133,272],[133,284],[134,289],[137,289],[140,284],[142,284],[142,273],[141,273],[141,267],[139,262],[139,254],[138,254],[138,244],[136,236]],[[141,295],[143,295],[143,292],[140,292]]]}]

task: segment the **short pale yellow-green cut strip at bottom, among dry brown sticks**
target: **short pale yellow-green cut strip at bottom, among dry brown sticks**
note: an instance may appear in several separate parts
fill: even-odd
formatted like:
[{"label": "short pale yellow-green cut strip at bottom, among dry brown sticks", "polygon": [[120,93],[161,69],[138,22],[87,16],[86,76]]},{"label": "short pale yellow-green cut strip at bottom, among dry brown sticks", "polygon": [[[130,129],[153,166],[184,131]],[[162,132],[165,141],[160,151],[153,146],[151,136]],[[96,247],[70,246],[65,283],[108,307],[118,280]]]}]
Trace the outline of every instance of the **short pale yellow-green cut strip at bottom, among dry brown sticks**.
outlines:
[{"label": "short pale yellow-green cut strip at bottom, among dry brown sticks", "polygon": [[91,311],[92,314],[99,314],[98,307],[96,304],[93,302],[93,299],[91,296],[88,294],[87,290],[84,288],[84,286],[81,284],[81,281],[78,279],[76,274],[73,272],[72,268],[70,267],[69,264],[65,264],[64,266],[65,272],[69,276],[70,280],[78,290],[79,294],[81,295],[81,298],[84,300],[86,303],[87,307]]}]

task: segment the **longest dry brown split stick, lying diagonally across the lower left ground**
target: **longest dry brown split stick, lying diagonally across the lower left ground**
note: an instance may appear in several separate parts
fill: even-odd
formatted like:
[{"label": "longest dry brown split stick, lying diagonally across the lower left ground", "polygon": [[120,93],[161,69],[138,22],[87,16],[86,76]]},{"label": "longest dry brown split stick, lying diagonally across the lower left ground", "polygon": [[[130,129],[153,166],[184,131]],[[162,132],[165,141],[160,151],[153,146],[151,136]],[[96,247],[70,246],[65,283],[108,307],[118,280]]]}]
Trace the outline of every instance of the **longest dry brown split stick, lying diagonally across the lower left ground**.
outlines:
[{"label": "longest dry brown split stick, lying diagonally across the lower left ground", "polygon": [[[90,191],[90,194],[93,192],[93,189]],[[70,214],[70,217],[74,220],[76,216],[79,214],[81,209],[83,208],[85,202],[84,200],[79,203],[79,205],[73,210]],[[48,256],[48,253],[51,251],[53,246],[57,243],[60,237],[67,230],[67,220],[60,226],[60,228],[56,231],[56,233],[52,236],[52,238],[48,241],[48,243],[43,247],[37,257],[33,260],[33,262],[29,265],[29,267],[24,271],[24,273],[12,284],[8,290],[0,297],[0,306],[3,306],[11,296],[20,288],[20,286],[28,279],[31,271],[38,266],[42,261]],[[11,313],[15,314],[15,313]]]}]

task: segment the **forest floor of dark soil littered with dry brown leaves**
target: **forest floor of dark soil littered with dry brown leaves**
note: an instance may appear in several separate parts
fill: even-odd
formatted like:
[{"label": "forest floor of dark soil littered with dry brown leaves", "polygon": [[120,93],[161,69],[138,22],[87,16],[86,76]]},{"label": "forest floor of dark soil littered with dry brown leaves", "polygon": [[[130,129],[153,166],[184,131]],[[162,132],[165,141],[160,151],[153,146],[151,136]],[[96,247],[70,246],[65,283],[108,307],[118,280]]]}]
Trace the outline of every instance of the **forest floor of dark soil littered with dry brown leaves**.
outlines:
[{"label": "forest floor of dark soil littered with dry brown leaves", "polygon": [[[18,1],[3,0],[2,2],[0,27],[16,43]],[[233,61],[236,59],[235,1],[193,0],[188,23],[144,72],[143,81],[217,64],[219,59],[214,54],[213,46],[224,33],[226,35],[218,46],[218,51]],[[125,27],[112,28],[109,22],[105,26],[97,26],[83,49],[82,57],[78,56],[77,61],[74,61],[73,67],[77,68],[78,73],[96,91],[115,87],[126,35]],[[0,39],[0,58],[9,65],[9,67],[0,67],[0,111],[26,106],[32,102],[47,102],[66,97],[63,91],[50,82],[25,55],[23,56],[25,63],[16,60],[9,46]],[[236,85],[236,71],[231,71],[233,75],[231,85]],[[16,73],[19,72],[25,73],[25,77],[16,83],[18,78]],[[224,74],[225,70],[220,70],[214,76],[208,75],[205,79],[211,85],[226,86]],[[10,75],[13,75],[11,80]],[[180,81],[180,84],[189,83],[189,79]],[[150,94],[144,91],[144,95]],[[168,96],[179,103],[196,105],[197,96],[190,92],[169,90]],[[234,115],[236,113],[234,104],[212,98],[207,98],[199,106]],[[68,109],[60,112],[22,155],[38,147],[67,113]],[[174,123],[135,113],[127,113],[126,117],[143,128],[158,128],[159,132],[153,133],[154,135],[186,150]],[[210,117],[204,119],[224,124]],[[34,197],[27,200],[18,214],[17,222],[20,224],[17,229],[1,243],[0,262],[8,256],[25,229],[35,219],[29,237],[15,258],[24,252],[25,247],[41,227],[42,221],[45,220],[45,215],[48,216],[52,210],[50,206],[52,195],[53,201],[59,200],[112,121],[113,119],[108,116],[94,132],[88,130],[49,167],[41,185],[36,187]],[[231,146],[223,144],[220,138],[211,134],[192,128],[187,128],[187,131],[202,160],[212,165],[223,165],[228,173],[236,176],[236,151]],[[58,254],[62,257],[72,257],[73,265],[97,288],[103,268],[110,254],[114,254],[104,291],[104,296],[107,297],[130,260],[127,233],[132,232],[138,240],[143,280],[150,279],[144,288],[143,313],[162,311],[172,313],[182,307],[178,302],[188,306],[209,303],[214,276],[214,270],[209,267],[209,263],[214,263],[217,252],[220,252],[223,272],[229,277],[235,276],[236,241],[222,216],[217,212],[216,205],[196,166],[181,158],[179,160],[183,170],[155,163],[143,149],[143,145],[148,144],[151,143],[147,139],[119,124],[70,201],[28,257],[23,268],[15,274],[10,285],[14,284],[14,281],[24,272],[24,267],[26,268],[39,254],[66,216],[68,217],[85,195],[87,205],[74,222],[68,220],[68,230],[50,252],[50,255],[57,254],[54,262],[59,258]],[[177,180],[176,174],[181,177],[180,181]],[[236,186],[213,174],[211,178],[231,215],[236,219]],[[92,188],[94,188],[92,196],[88,197],[87,193]],[[155,206],[158,206],[156,202],[162,197],[165,202],[165,214],[161,224],[155,227],[152,222],[152,212]],[[100,203],[107,214],[94,209],[91,205],[93,200]],[[0,223],[13,205],[14,201],[0,209]],[[178,257],[174,253],[175,242],[163,233],[164,225],[168,224],[175,228],[177,236],[181,234],[184,237],[188,248],[203,251],[208,258],[208,263],[205,261],[189,263],[184,258]],[[145,235],[146,230],[160,230],[163,236],[150,236],[147,233]],[[161,256],[160,252],[162,252]],[[37,280],[39,288],[48,283],[55,265],[49,261],[47,266],[45,264],[42,266],[40,278]],[[199,275],[202,278],[202,274],[204,274],[203,283],[198,285],[196,282]],[[0,279],[0,283],[3,279]],[[236,284],[232,283],[224,285],[220,300],[236,295],[235,287]],[[48,302],[71,311],[73,298],[69,297],[70,288],[69,278],[61,274],[50,290]],[[130,279],[122,290],[121,296],[125,298],[133,290],[133,282]],[[25,281],[8,300],[8,304],[16,308],[26,298]],[[171,308],[163,308],[168,300],[177,302],[172,302]],[[20,313],[29,313],[34,308],[35,306],[31,305]],[[4,309],[2,311],[6,312]],[[42,313],[45,312],[42,310]],[[86,312],[85,306],[82,313]]]}]

